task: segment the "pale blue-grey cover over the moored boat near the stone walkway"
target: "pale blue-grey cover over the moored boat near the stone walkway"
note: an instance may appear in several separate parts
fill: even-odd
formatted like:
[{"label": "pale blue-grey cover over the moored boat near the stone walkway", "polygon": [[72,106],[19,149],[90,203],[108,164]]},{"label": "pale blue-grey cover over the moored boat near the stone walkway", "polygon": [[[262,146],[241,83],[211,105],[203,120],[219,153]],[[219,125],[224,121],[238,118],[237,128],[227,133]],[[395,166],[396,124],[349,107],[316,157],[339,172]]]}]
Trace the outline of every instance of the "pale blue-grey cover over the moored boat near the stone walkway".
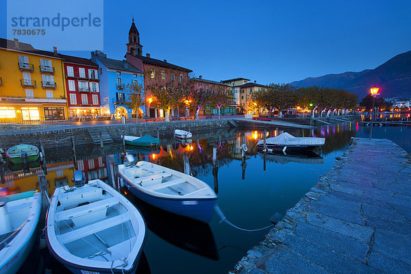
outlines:
[{"label": "pale blue-grey cover over the moored boat near the stone walkway", "polygon": [[[267,145],[284,145],[284,146],[316,146],[324,145],[325,138],[318,137],[294,137],[284,132],[277,137],[266,139]],[[264,145],[264,140],[259,140],[257,145]]]}]

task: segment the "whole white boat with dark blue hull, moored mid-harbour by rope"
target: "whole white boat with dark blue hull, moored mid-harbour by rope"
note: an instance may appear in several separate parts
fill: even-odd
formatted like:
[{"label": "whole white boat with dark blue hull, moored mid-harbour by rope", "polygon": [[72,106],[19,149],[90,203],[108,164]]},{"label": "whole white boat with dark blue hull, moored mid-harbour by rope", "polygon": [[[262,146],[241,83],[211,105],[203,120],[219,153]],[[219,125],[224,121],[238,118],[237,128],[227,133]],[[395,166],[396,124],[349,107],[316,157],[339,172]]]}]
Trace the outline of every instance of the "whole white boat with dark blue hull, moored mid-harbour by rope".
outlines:
[{"label": "whole white boat with dark blue hull, moored mid-harbour by rope", "polygon": [[158,164],[132,164],[132,155],[126,159],[125,164],[119,165],[121,184],[136,197],[162,210],[210,221],[217,196],[208,184]]}]

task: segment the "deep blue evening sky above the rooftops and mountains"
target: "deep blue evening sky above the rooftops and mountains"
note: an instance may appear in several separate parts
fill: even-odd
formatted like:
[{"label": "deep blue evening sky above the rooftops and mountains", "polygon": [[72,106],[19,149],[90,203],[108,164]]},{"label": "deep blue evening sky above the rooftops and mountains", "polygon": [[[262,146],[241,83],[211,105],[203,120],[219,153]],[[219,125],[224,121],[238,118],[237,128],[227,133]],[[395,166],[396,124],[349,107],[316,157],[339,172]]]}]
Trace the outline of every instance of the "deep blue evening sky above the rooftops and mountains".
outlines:
[{"label": "deep blue evening sky above the rooftops and mountains", "polygon": [[[5,38],[6,2],[0,3]],[[143,53],[152,58],[206,79],[292,82],[374,69],[411,50],[410,14],[410,0],[106,0],[103,51],[123,58],[134,16]],[[88,52],[71,54],[90,58]]]}]

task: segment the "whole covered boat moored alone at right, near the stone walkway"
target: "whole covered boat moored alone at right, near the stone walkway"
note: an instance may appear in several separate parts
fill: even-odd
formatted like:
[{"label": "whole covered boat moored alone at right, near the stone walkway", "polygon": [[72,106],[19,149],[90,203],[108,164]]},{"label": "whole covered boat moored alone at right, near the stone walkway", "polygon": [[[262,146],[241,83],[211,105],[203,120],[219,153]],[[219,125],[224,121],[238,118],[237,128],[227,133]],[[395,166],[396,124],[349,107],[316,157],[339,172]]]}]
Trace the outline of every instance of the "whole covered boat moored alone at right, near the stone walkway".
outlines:
[{"label": "whole covered boat moored alone at right, near the stone walkway", "polygon": [[[317,137],[295,137],[287,132],[279,134],[277,137],[266,138],[267,149],[275,151],[313,151],[317,147],[323,146],[325,138]],[[258,140],[257,149],[264,149],[264,140]]]}]

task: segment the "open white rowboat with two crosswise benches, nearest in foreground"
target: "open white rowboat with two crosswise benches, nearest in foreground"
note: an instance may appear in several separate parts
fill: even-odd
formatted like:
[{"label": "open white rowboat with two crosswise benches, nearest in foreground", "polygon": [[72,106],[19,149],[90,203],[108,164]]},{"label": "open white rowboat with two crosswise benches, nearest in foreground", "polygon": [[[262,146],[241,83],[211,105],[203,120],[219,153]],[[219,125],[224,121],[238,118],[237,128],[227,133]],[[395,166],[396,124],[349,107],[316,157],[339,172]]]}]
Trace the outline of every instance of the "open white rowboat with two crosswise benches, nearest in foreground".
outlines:
[{"label": "open white rowboat with two crosswise benches, nearest in foreground", "polygon": [[46,223],[49,250],[73,273],[135,273],[145,222],[103,181],[56,188]]}]

